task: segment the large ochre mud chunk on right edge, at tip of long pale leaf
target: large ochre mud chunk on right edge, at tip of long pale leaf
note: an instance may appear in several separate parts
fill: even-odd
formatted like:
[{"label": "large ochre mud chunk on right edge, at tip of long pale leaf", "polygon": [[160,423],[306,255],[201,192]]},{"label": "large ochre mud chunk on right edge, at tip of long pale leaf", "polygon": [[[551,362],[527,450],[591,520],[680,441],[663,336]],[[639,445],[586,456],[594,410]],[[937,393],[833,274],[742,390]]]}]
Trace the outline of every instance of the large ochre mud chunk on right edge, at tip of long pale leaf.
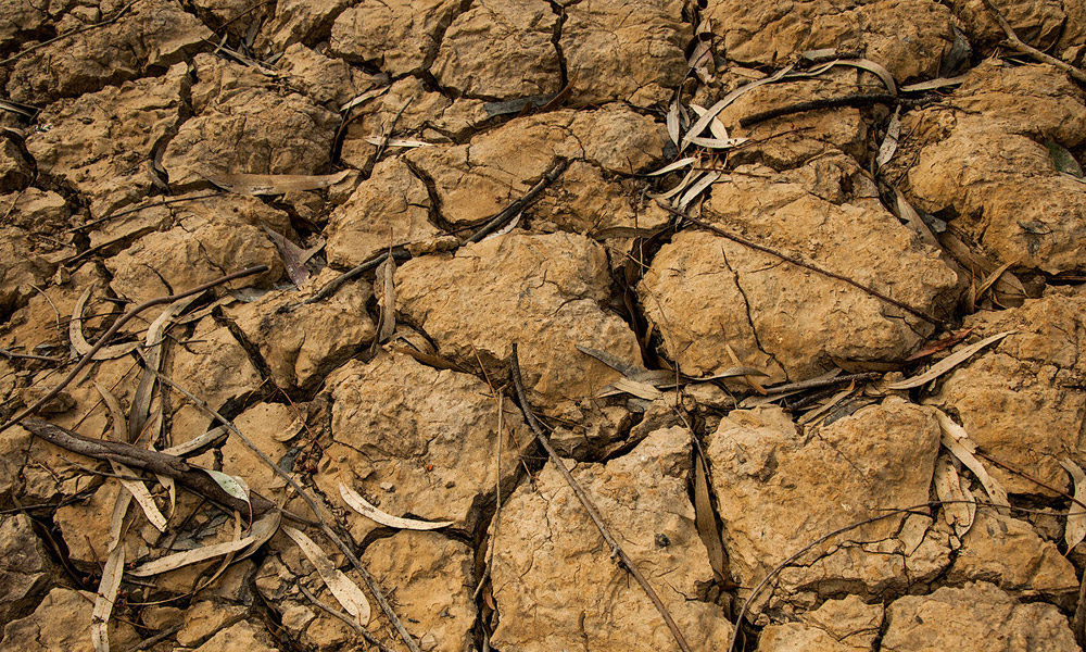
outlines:
[{"label": "large ochre mud chunk on right edge, at tip of long pale leaf", "polygon": [[[952,411],[984,452],[1060,490],[1071,488],[1060,460],[1086,450],[1084,311],[1083,291],[1050,289],[1021,308],[968,317],[977,337],[1019,333],[955,369],[931,399]],[[985,467],[1011,493],[1047,493],[994,464]]]}]

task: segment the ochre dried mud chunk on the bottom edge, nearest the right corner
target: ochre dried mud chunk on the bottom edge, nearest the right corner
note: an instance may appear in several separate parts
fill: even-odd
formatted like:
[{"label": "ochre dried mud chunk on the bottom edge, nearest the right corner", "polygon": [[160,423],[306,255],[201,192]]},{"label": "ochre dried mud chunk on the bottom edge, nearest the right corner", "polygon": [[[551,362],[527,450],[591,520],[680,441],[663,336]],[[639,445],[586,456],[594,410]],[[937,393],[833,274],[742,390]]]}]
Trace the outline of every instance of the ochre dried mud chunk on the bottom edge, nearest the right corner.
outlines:
[{"label": "ochre dried mud chunk on the bottom edge, nearest the right corner", "polygon": [[1040,602],[1022,604],[987,582],[908,595],[886,609],[885,652],[1072,652],[1068,619]]}]

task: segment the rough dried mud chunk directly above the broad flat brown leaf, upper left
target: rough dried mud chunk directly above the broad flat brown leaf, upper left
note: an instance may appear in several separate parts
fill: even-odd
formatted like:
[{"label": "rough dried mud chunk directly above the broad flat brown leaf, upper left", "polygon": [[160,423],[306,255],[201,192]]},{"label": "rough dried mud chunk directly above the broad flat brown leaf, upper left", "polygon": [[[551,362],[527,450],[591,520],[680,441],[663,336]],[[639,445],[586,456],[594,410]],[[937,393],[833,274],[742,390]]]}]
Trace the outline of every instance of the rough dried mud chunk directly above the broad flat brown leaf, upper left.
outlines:
[{"label": "rough dried mud chunk directly above the broad flat brown leaf, upper left", "polygon": [[197,116],[169,141],[162,164],[182,188],[222,173],[318,174],[328,164],[338,117],[296,93],[274,91],[240,64],[195,59]]}]

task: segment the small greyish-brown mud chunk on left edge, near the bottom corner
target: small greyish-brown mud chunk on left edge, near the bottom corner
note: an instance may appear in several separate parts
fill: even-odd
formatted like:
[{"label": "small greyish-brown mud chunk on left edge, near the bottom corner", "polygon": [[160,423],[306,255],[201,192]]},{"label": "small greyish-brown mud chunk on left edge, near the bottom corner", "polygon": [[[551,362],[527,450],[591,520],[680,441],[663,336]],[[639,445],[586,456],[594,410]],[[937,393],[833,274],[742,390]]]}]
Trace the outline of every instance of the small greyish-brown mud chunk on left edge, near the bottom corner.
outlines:
[{"label": "small greyish-brown mud chunk on left edge, near the bottom corner", "polygon": [[27,613],[60,573],[25,514],[0,516],[0,625]]}]

